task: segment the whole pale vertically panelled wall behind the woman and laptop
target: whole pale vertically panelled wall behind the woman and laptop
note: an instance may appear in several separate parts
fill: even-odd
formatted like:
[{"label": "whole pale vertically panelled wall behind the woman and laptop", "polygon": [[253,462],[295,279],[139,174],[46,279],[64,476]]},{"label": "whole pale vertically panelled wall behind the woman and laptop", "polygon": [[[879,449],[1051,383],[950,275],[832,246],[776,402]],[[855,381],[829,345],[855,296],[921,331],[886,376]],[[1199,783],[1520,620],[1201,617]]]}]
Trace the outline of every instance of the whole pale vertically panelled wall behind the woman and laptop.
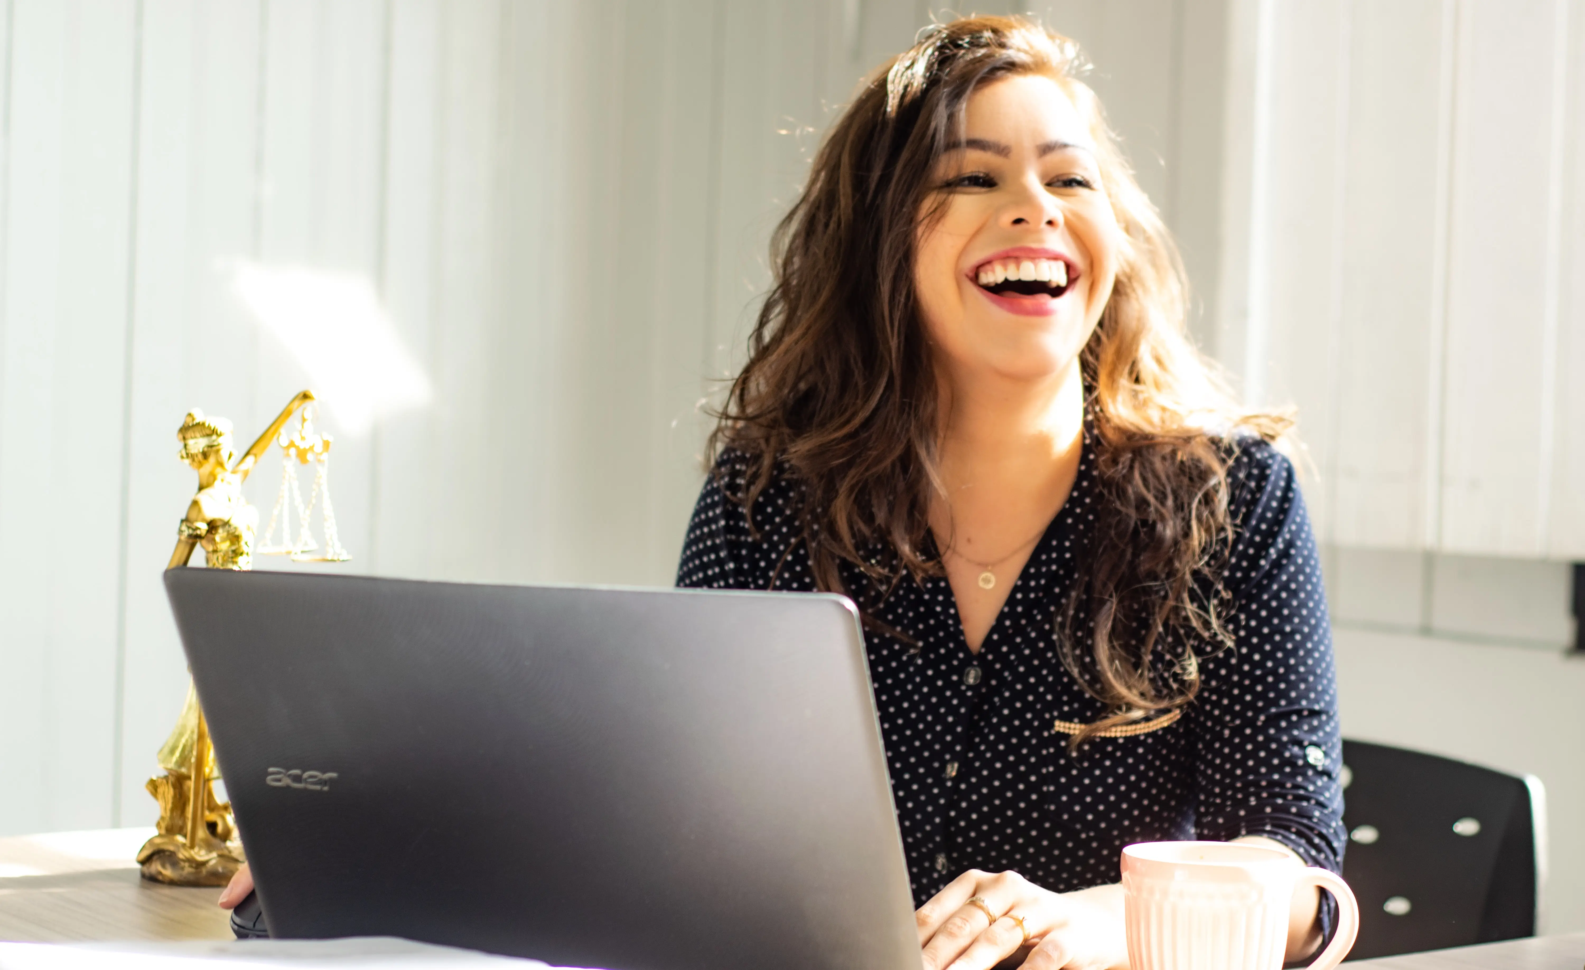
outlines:
[{"label": "whole pale vertically panelled wall behind the woman and laptop", "polygon": [[[197,404],[246,445],[312,384],[239,260],[366,281],[433,387],[365,431],[327,406],[342,569],[667,583],[769,231],[927,6],[0,3],[0,834],[155,815],[176,426]],[[1301,407],[1346,731],[1536,770],[1579,818],[1582,664],[1542,561],[1585,542],[1574,0],[1033,6],[1097,62],[1203,342]],[[1488,90],[1517,116],[1460,95]],[[266,517],[277,474],[249,485]],[[1585,873],[1585,842],[1556,829],[1550,926],[1585,927],[1560,864]]]}]

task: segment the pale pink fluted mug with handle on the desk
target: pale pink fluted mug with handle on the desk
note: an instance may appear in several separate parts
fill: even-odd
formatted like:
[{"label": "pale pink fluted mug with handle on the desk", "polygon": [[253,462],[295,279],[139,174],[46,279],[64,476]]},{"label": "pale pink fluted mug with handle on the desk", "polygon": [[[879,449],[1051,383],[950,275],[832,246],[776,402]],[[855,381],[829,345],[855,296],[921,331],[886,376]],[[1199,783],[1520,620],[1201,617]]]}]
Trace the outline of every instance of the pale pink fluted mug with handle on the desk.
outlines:
[{"label": "pale pink fluted mug with handle on the desk", "polygon": [[1122,850],[1132,970],[1279,970],[1293,889],[1338,899],[1338,932],[1309,965],[1330,970],[1360,932],[1349,884],[1263,845],[1141,842]]}]

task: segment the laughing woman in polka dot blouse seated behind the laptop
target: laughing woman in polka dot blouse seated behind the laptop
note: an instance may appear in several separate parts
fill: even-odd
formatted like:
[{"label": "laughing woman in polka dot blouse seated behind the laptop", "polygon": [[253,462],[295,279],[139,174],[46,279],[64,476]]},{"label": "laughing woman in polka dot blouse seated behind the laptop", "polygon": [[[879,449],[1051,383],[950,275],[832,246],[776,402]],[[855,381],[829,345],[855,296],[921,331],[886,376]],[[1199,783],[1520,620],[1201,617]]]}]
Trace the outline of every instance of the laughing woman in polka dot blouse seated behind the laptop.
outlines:
[{"label": "laughing woman in polka dot blouse seated behind the laptop", "polygon": [[[1287,422],[1187,341],[1173,241],[1079,73],[1030,22],[964,19],[837,120],[678,571],[859,604],[930,970],[1125,967],[1132,842],[1342,851]],[[1293,899],[1290,957],[1320,902]]]}]

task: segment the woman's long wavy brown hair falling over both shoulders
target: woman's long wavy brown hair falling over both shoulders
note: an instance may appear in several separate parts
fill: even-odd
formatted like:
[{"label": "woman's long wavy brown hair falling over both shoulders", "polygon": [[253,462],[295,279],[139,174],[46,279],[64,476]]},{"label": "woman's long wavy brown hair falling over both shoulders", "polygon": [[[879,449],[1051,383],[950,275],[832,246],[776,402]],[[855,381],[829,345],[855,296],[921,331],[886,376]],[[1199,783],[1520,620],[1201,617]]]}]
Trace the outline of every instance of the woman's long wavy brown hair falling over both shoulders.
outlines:
[{"label": "woman's long wavy brown hair falling over both shoulders", "polygon": [[[1228,642],[1217,577],[1233,534],[1232,442],[1247,433],[1274,441],[1289,426],[1239,407],[1187,339],[1178,249],[1084,70],[1073,41],[1019,17],[929,27],[878,70],[775,231],[773,285],[710,436],[712,458],[726,447],[750,456],[732,496],[745,509],[777,475],[799,483],[802,542],[821,588],[870,613],[905,575],[940,571],[927,539],[940,403],[913,288],[919,212],[935,211],[930,173],[973,90],[1014,74],[1054,78],[1089,120],[1125,236],[1111,300],[1081,353],[1103,501],[1087,569],[1056,605],[1056,648],[1105,704],[1075,747],[1194,697],[1197,653]],[[861,582],[845,583],[843,571]]]}]

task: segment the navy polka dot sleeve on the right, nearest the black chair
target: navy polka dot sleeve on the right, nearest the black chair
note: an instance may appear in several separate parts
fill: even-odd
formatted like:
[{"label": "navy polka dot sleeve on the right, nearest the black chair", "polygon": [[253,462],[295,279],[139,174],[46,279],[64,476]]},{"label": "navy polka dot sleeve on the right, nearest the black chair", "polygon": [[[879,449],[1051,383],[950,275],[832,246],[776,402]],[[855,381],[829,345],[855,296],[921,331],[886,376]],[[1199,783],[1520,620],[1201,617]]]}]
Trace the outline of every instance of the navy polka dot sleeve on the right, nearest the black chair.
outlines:
[{"label": "navy polka dot sleeve on the right, nearest the black chair", "polygon": [[1224,601],[1233,647],[1201,661],[1187,718],[1201,838],[1265,835],[1342,867],[1342,742],[1331,626],[1293,466],[1263,441],[1228,469],[1235,542]]}]

